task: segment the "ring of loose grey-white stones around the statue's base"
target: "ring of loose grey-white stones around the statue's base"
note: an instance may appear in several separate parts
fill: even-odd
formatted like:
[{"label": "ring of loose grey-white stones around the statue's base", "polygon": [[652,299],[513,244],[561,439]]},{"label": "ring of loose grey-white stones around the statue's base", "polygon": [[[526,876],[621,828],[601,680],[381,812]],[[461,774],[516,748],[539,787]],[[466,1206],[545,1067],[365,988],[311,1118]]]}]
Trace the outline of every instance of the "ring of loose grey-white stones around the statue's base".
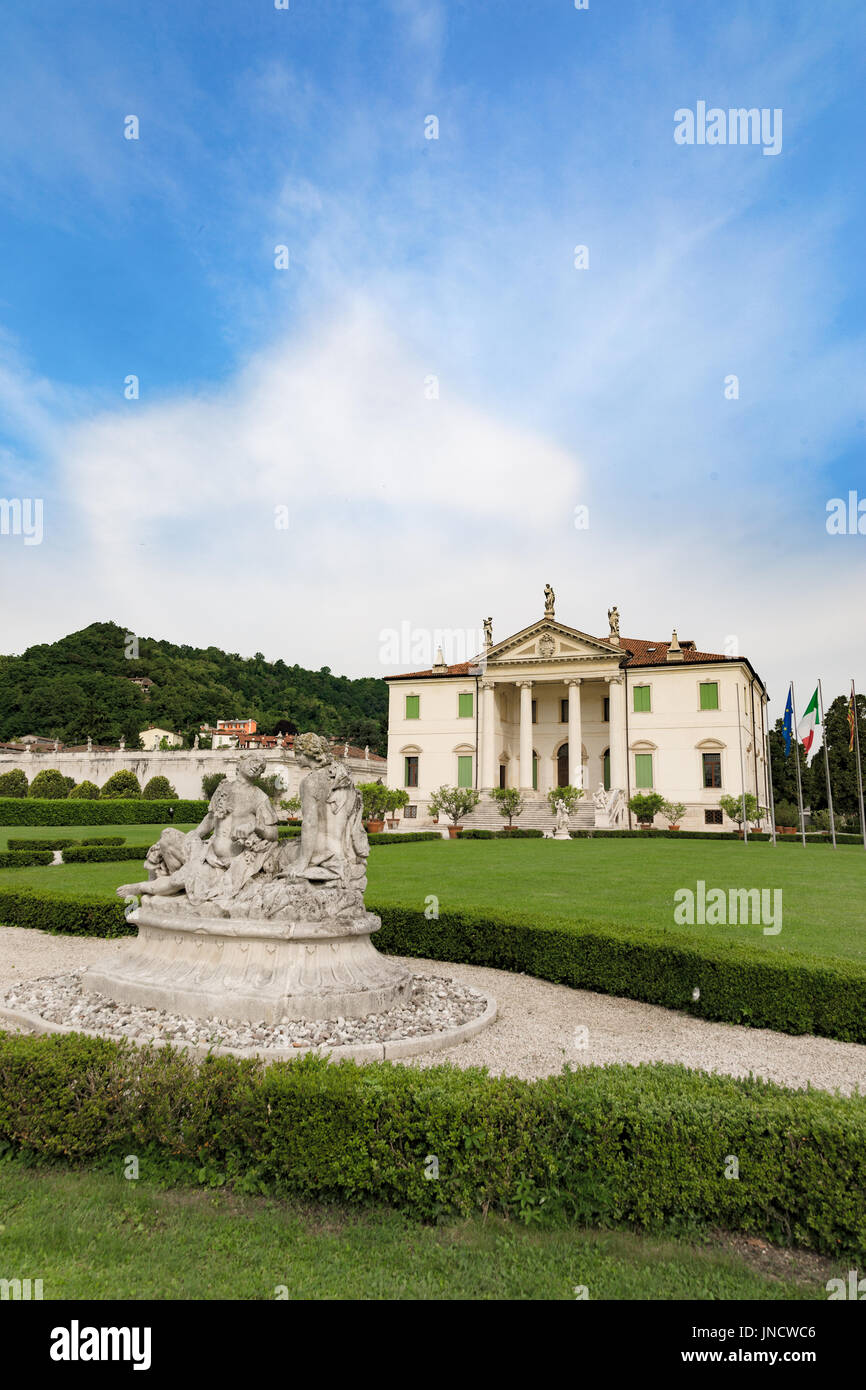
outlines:
[{"label": "ring of loose grey-white stones around the statue's base", "polygon": [[206,1044],[213,1047],[267,1048],[350,1047],[357,1042],[395,1042],[405,1038],[443,1033],[480,1017],[487,995],[466,984],[441,976],[413,976],[410,999],[382,1013],[364,1019],[322,1019],[304,1022],[282,1019],[281,1023],[234,1023],[228,1019],[192,1019],[164,1009],[145,1009],[133,1004],[115,1004],[103,994],[82,990],[81,970],[71,974],[22,980],[0,995],[0,1006],[36,1013],[49,1023],[93,1029],[111,1037],[136,1042],[152,1038],[175,1045]]}]

